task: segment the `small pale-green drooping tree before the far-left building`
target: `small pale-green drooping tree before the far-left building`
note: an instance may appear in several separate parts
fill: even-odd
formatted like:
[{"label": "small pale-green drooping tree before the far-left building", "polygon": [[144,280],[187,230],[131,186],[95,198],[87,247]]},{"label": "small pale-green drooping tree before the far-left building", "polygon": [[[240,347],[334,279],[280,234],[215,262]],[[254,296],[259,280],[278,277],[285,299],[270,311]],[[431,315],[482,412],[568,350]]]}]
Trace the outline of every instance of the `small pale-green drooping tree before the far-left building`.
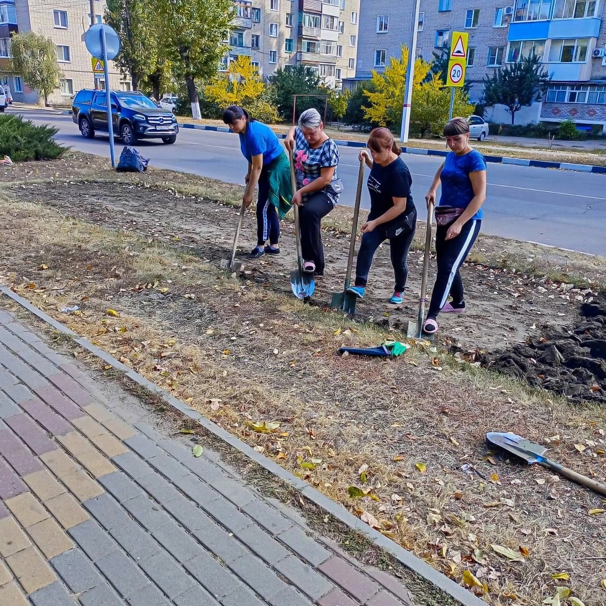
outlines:
[{"label": "small pale-green drooping tree before the far-left building", "polygon": [[55,42],[33,32],[13,34],[11,54],[13,70],[21,74],[30,88],[41,93],[48,105],[48,95],[59,87],[59,79],[63,77]]}]

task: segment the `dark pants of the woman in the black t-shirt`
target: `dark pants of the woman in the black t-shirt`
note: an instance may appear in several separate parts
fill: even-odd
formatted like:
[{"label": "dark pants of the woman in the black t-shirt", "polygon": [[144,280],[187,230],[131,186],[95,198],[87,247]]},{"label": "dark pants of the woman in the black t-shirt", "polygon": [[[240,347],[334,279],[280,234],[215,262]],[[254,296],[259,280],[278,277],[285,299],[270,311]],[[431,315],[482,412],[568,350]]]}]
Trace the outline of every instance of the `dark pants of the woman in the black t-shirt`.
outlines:
[{"label": "dark pants of the woman in the black t-shirt", "polygon": [[395,273],[394,291],[403,292],[408,278],[408,250],[415,237],[416,213],[411,221],[413,228],[404,231],[396,238],[387,238],[387,231],[382,225],[375,227],[372,231],[362,234],[362,243],[358,251],[358,260],[356,261],[356,286],[366,286],[368,281],[368,272],[373,262],[377,248],[385,240],[389,239],[389,249],[391,256],[391,265]]}]

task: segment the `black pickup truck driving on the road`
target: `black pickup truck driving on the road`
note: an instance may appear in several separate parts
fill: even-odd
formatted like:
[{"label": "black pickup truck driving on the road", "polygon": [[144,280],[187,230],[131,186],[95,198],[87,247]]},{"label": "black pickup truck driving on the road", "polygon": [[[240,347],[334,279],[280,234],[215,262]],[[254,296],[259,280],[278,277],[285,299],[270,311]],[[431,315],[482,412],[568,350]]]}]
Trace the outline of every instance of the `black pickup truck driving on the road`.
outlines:
[{"label": "black pickup truck driving on the road", "polygon": [[[171,112],[158,107],[139,92],[110,91],[112,95],[113,132],[126,145],[137,139],[162,139],[170,144],[177,140],[179,125]],[[76,93],[72,119],[87,139],[95,132],[107,133],[107,105],[104,90],[83,88]]]}]

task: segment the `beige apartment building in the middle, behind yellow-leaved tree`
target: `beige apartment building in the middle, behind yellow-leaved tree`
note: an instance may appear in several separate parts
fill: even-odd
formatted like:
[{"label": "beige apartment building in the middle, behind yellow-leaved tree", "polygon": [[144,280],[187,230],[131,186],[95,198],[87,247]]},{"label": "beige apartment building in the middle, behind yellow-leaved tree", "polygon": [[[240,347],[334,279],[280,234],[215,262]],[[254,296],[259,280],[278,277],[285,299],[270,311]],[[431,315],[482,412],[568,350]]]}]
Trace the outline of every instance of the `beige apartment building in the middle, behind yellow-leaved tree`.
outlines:
[{"label": "beige apartment building in the middle, behind yellow-leaved tree", "polygon": [[264,76],[303,64],[340,88],[355,75],[360,0],[236,0],[231,58],[250,56]]}]

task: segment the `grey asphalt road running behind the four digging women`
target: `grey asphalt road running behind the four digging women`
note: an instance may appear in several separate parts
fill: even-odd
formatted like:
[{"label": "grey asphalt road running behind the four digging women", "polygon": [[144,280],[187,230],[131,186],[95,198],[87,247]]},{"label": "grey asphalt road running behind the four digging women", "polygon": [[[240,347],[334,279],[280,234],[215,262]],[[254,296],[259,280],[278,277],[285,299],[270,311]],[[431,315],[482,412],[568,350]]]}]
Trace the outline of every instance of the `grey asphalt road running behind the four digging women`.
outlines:
[{"label": "grey asphalt road running behind the four digging women", "polygon": [[[107,136],[82,138],[71,116],[44,110],[22,113],[34,122],[59,128],[56,138],[62,144],[109,158]],[[174,145],[140,141],[137,147],[151,159],[152,166],[244,183],[247,164],[236,135],[231,133],[183,129]],[[121,149],[122,144],[116,141],[116,157]],[[359,150],[341,147],[340,151],[339,176],[346,187],[341,202],[353,205]],[[410,154],[402,157],[413,176],[413,198],[422,218],[427,213],[424,196],[441,159]],[[368,204],[364,188],[362,206],[368,208]],[[606,175],[488,164],[484,213],[484,233],[606,255]]]}]

